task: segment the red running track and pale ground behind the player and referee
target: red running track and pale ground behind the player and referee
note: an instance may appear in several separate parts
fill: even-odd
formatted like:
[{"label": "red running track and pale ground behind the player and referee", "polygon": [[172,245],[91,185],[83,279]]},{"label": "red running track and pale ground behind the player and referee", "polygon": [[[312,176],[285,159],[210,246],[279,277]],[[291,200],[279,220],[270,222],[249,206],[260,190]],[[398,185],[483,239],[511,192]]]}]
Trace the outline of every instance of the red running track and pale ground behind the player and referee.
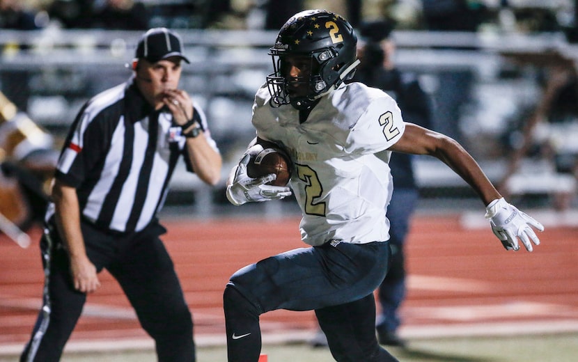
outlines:
[{"label": "red running track and pale ground behind the player and referee", "polygon": [[[545,223],[533,253],[506,252],[483,215],[418,214],[407,242],[407,349],[401,361],[578,361],[578,228]],[[198,361],[226,361],[222,291],[235,270],[302,247],[299,219],[167,219],[164,241],[194,315]],[[0,361],[16,361],[42,293],[40,230],[22,249],[0,236]],[[63,361],[155,361],[153,343],[113,278],[88,297]],[[313,312],[261,318],[271,361],[333,361],[314,349]]]}]

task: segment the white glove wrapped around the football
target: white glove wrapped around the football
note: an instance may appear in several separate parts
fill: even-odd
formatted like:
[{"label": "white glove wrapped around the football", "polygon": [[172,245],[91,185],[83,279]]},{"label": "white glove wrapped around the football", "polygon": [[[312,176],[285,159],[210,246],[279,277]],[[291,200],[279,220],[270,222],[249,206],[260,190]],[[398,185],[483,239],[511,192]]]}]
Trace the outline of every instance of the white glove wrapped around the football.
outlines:
[{"label": "white glove wrapped around the football", "polygon": [[251,201],[280,200],[291,195],[289,187],[266,184],[277,178],[274,173],[260,178],[250,178],[247,175],[247,164],[249,164],[250,157],[248,154],[244,155],[239,164],[231,171],[233,180],[228,182],[227,198],[233,205],[243,205]]}]

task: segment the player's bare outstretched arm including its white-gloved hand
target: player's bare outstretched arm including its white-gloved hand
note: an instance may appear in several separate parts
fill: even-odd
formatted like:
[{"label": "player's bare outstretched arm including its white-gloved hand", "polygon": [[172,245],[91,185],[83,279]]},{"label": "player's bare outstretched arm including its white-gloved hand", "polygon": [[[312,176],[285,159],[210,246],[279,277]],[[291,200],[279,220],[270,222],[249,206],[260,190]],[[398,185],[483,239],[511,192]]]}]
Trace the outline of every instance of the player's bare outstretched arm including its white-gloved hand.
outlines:
[{"label": "player's bare outstretched arm including its white-gloved hand", "polygon": [[401,139],[389,149],[437,157],[460,175],[486,205],[485,217],[490,219],[492,231],[507,250],[520,249],[518,239],[528,251],[532,251],[531,242],[536,245],[540,244],[540,239],[532,227],[542,231],[544,226],[507,203],[492,182],[487,179],[474,158],[457,141],[444,134],[407,123]]}]

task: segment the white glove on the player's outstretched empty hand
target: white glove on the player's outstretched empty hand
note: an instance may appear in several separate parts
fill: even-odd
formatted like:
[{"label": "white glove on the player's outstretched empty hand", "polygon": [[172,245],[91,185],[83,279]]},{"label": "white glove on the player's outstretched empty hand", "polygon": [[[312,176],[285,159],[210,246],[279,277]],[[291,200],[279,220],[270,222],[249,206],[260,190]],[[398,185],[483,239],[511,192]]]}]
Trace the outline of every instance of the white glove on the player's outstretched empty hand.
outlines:
[{"label": "white glove on the player's outstretched empty hand", "polygon": [[544,231],[544,226],[524,212],[517,210],[514,205],[510,205],[503,198],[493,200],[485,210],[485,218],[490,219],[492,231],[501,240],[506,250],[519,250],[518,238],[522,240],[527,251],[532,251],[530,239],[534,244],[540,244],[540,239],[530,226],[540,231]]}]

